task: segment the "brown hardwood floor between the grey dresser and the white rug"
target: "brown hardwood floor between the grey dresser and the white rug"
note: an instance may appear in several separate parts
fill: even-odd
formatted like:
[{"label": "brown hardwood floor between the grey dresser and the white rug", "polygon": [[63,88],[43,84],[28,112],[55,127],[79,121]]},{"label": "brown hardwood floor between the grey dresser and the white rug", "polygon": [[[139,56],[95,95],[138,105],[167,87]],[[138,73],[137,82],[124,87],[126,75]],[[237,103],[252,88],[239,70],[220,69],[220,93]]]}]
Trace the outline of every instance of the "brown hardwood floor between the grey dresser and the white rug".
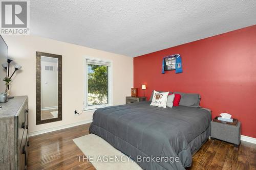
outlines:
[{"label": "brown hardwood floor between the grey dresser and the white rug", "polygon": [[72,139],[89,134],[90,124],[29,137],[28,170],[36,169],[95,169]]}]

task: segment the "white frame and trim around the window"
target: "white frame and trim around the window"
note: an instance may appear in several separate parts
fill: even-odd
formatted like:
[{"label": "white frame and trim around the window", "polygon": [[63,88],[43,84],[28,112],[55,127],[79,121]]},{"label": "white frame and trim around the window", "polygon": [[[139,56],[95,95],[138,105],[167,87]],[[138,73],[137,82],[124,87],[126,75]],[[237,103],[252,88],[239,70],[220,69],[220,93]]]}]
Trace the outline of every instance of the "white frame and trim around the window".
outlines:
[{"label": "white frame and trim around the window", "polygon": [[[93,105],[93,106],[88,106],[88,74],[87,74],[87,70],[88,70],[88,65],[86,63],[86,59],[90,59],[90,60],[94,60],[95,62],[97,61],[103,61],[103,62],[110,62],[110,66],[108,66],[108,104],[102,104],[102,105]],[[98,108],[102,108],[102,107],[107,107],[107,106],[113,106],[113,62],[111,60],[105,60],[105,59],[99,59],[99,58],[92,58],[89,56],[85,56],[84,57],[84,102],[83,102],[83,109],[84,110],[96,110]]]}]

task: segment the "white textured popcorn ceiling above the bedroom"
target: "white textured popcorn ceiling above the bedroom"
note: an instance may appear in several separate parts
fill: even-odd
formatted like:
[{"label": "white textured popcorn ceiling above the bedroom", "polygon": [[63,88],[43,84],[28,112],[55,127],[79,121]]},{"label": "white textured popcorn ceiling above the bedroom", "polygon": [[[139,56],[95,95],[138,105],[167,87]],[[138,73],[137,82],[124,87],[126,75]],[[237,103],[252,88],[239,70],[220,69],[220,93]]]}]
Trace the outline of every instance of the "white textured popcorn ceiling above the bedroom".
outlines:
[{"label": "white textured popcorn ceiling above the bedroom", "polygon": [[30,0],[32,35],[139,56],[256,24],[256,1]]}]

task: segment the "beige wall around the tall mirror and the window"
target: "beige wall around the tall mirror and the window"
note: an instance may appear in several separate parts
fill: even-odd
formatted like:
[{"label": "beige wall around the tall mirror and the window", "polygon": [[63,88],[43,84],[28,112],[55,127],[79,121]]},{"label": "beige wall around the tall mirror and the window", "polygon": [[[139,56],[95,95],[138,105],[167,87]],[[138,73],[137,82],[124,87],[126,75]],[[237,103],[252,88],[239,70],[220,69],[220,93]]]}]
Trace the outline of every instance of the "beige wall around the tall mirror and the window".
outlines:
[{"label": "beige wall around the tall mirror and the window", "polygon": [[[29,131],[39,131],[53,127],[92,119],[93,112],[78,116],[74,110],[83,107],[84,89],[83,57],[90,56],[113,61],[113,104],[125,103],[125,96],[133,87],[133,58],[95,50],[75,44],[60,42],[37,36],[3,36],[9,57],[22,65],[22,71],[13,77],[12,95],[29,96]],[[35,62],[36,51],[62,55],[62,121],[35,125]]]}]

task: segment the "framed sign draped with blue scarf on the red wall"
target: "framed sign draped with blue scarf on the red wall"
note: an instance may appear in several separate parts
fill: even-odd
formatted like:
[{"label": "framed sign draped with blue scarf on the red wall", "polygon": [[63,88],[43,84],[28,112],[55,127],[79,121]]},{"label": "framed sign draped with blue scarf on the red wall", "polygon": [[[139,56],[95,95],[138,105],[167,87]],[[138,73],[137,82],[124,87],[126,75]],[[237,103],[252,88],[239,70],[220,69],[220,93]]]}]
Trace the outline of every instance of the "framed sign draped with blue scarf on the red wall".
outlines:
[{"label": "framed sign draped with blue scarf on the red wall", "polygon": [[176,70],[176,73],[182,72],[181,57],[179,54],[166,56],[162,61],[162,74],[164,71]]}]

